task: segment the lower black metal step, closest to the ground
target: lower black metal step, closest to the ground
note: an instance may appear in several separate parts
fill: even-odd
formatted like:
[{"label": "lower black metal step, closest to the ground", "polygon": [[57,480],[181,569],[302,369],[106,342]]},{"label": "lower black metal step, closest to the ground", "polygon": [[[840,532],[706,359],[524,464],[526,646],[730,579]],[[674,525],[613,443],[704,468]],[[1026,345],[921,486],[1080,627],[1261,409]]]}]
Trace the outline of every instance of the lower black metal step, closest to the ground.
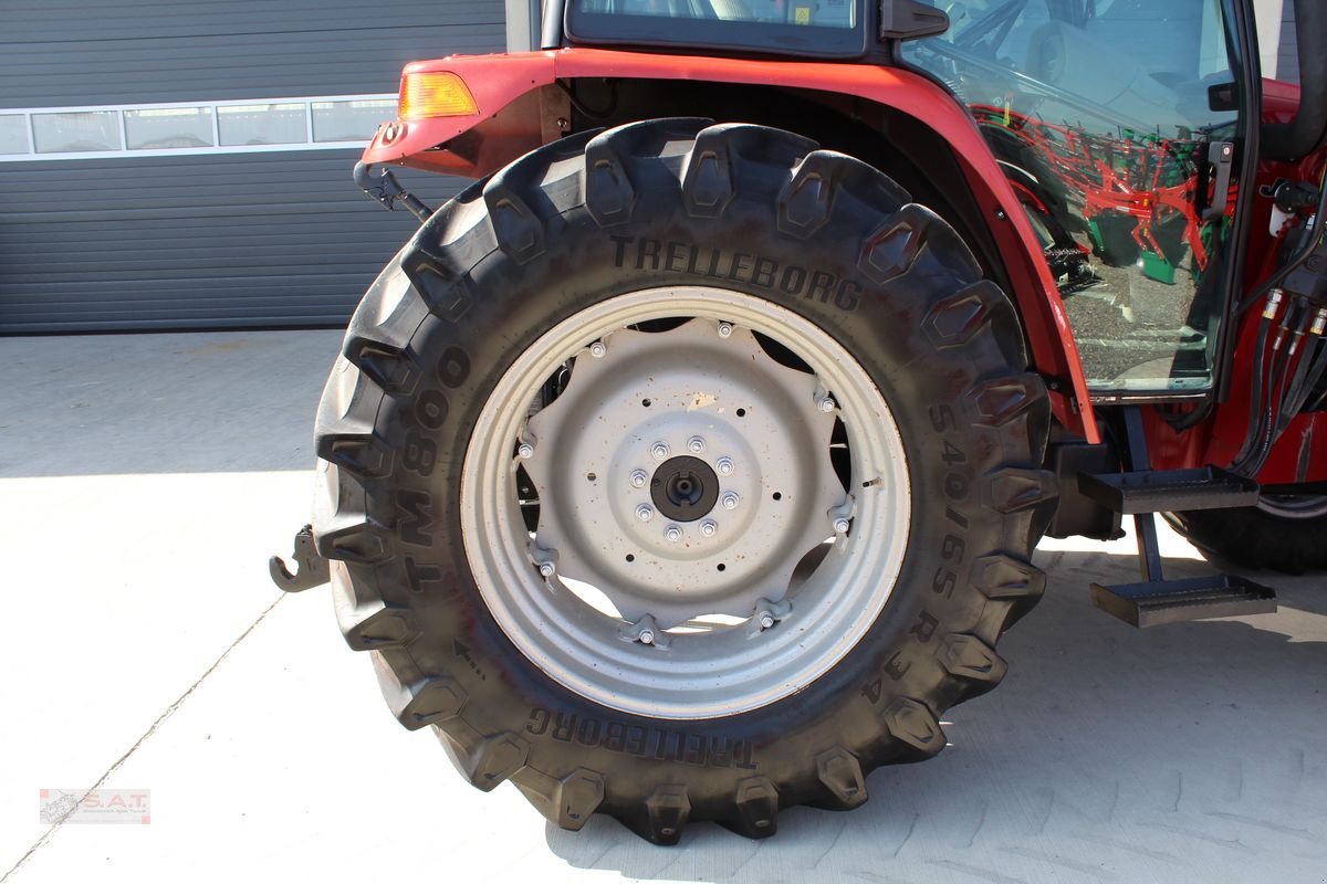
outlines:
[{"label": "lower black metal step, closest to the ground", "polygon": [[1092,584],[1092,604],[1136,627],[1273,614],[1277,592],[1230,574],[1121,586]]}]

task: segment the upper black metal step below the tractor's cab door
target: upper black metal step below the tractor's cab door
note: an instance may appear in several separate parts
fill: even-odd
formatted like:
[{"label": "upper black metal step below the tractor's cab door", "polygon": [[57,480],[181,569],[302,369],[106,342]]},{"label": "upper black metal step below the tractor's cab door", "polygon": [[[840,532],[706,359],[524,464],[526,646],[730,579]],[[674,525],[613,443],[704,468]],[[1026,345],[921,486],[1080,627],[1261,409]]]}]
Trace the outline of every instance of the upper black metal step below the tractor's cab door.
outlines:
[{"label": "upper black metal step below the tractor's cab door", "polygon": [[1229,509],[1258,502],[1258,482],[1220,467],[1079,473],[1079,490],[1115,513]]}]

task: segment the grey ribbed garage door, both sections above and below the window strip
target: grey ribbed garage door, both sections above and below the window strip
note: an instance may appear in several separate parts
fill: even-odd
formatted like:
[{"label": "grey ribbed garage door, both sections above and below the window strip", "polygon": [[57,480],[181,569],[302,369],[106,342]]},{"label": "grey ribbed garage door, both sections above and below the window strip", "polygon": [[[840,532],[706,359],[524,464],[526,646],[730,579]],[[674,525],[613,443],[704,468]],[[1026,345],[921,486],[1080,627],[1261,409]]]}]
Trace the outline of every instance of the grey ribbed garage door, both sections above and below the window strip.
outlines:
[{"label": "grey ribbed garage door, both sections above and below the window strip", "polygon": [[[502,0],[21,0],[0,107],[391,93],[498,52]],[[0,162],[0,333],[342,323],[414,228],[357,151]],[[464,182],[410,184],[437,204]]]}]

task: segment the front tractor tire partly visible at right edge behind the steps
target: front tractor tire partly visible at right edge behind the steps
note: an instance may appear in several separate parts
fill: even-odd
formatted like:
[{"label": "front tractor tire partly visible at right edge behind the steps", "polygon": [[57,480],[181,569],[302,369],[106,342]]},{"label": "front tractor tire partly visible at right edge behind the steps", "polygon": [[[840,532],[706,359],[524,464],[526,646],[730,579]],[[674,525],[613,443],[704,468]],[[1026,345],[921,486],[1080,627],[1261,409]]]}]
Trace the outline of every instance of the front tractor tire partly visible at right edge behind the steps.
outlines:
[{"label": "front tractor tire partly visible at right edge behind the steps", "polygon": [[1286,574],[1327,570],[1327,496],[1265,494],[1257,506],[1169,513],[1204,555]]}]

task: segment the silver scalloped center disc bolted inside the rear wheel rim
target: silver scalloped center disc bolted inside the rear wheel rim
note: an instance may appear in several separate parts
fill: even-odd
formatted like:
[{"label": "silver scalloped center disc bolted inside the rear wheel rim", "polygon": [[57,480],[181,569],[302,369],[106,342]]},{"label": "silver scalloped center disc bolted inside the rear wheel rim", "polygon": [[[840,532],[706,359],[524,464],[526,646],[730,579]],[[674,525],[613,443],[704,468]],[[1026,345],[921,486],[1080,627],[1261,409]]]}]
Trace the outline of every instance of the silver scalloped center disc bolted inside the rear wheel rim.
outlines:
[{"label": "silver scalloped center disc bolted inside the rear wheel rim", "polygon": [[847,497],[816,376],[707,321],[598,343],[527,427],[540,440],[524,461],[540,501],[535,563],[556,551],[563,579],[661,628],[783,599]]}]

